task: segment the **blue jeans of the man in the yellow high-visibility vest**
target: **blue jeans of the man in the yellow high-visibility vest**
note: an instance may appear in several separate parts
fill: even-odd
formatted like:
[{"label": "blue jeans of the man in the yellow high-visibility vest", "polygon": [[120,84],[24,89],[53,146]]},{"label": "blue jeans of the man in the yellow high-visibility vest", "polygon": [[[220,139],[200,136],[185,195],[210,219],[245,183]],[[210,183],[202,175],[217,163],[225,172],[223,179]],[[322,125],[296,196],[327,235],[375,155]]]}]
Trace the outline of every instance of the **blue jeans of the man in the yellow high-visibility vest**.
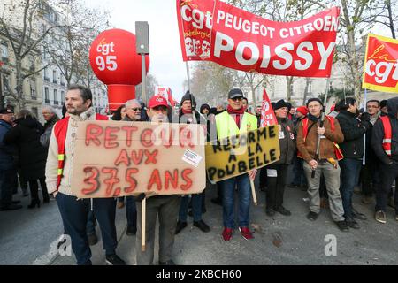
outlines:
[{"label": "blue jeans of the man in the yellow high-visibility vest", "polygon": [[223,192],[223,221],[224,226],[227,228],[235,227],[234,219],[234,194],[235,187],[238,187],[239,195],[239,226],[249,226],[249,207],[250,207],[250,181],[248,174],[234,177],[228,180],[219,182]]}]

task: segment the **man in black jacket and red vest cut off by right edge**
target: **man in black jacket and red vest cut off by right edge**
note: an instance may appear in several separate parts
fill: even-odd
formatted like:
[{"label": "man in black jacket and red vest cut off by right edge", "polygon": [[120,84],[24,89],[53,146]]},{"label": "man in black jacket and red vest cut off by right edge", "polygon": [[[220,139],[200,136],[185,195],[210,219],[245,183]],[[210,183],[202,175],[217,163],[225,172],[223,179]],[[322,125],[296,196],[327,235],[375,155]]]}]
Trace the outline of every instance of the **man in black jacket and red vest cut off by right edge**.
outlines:
[{"label": "man in black jacket and red vest cut off by right edge", "polygon": [[[398,178],[398,97],[387,101],[388,115],[373,126],[371,146],[381,162],[381,186],[376,192],[375,219],[386,223],[387,195],[395,178]],[[395,194],[395,220],[398,221],[398,194]]]}]

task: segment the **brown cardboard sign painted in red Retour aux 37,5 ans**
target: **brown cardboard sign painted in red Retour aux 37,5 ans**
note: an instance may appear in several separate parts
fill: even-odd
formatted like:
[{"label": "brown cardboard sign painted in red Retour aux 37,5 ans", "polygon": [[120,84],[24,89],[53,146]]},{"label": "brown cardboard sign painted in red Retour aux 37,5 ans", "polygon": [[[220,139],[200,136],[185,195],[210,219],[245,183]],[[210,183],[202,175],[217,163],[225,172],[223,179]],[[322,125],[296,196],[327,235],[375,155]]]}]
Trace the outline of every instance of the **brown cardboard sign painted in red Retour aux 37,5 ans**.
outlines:
[{"label": "brown cardboard sign painted in red Retour aux 37,5 ans", "polygon": [[81,122],[73,162],[79,198],[188,195],[206,187],[202,126]]}]

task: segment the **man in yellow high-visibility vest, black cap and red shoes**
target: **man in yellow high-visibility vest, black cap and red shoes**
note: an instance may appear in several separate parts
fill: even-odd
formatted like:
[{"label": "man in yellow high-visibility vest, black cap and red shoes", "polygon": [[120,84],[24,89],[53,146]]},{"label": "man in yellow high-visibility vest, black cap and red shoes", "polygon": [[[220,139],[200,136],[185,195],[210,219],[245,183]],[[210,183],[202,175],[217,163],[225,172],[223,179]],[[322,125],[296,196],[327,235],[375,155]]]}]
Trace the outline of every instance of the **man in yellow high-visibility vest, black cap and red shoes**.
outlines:
[{"label": "man in yellow high-visibility vest, black cap and red shoes", "polygon": [[[256,130],[256,116],[245,112],[243,107],[243,93],[239,88],[233,88],[228,93],[228,108],[225,112],[216,116],[216,127],[218,140],[226,137],[243,134],[248,131]],[[241,236],[245,240],[253,239],[253,234],[249,230],[249,206],[251,198],[250,180],[256,176],[256,170],[238,177],[219,182],[223,195],[223,221],[224,231],[222,233],[224,241],[230,241],[233,237],[234,223],[234,192],[238,188],[239,195],[239,229]]]}]

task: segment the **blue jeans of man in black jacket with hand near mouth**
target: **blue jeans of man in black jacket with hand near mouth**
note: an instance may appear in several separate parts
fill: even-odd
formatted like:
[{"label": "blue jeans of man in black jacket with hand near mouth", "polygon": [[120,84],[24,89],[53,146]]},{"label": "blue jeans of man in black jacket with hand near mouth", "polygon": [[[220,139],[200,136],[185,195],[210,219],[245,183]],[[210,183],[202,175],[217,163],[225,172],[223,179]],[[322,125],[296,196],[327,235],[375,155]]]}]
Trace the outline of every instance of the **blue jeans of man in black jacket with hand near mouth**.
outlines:
[{"label": "blue jeans of man in black jacket with hand near mouth", "polygon": [[362,160],[344,158],[340,162],[341,167],[341,200],[344,208],[344,216],[352,218],[352,195],[357,184],[357,176],[361,171]]}]

